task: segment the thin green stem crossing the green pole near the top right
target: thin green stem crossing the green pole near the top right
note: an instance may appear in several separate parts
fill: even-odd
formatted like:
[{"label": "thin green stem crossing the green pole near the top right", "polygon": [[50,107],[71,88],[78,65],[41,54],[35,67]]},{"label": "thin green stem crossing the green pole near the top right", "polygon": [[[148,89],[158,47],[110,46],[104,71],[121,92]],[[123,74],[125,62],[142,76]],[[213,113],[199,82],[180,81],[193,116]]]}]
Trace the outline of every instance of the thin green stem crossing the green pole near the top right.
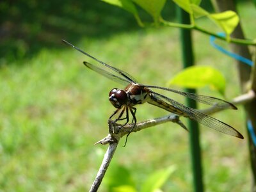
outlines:
[{"label": "thin green stem crossing the green pole near the top right", "polygon": [[[200,31],[207,35],[215,36],[216,38],[219,38],[220,40],[227,41],[227,38],[225,38],[223,36],[219,36],[216,33],[212,33],[211,31],[207,31],[206,29],[200,28],[193,24],[173,23],[173,22],[168,22],[166,20],[161,20],[161,23],[164,26],[169,26],[169,27],[173,27],[173,28],[195,29],[196,31]],[[240,39],[240,38],[230,38],[230,43],[240,44],[240,45],[254,45],[254,46],[256,45],[256,41],[254,41],[254,40],[246,40],[246,39]]]}]

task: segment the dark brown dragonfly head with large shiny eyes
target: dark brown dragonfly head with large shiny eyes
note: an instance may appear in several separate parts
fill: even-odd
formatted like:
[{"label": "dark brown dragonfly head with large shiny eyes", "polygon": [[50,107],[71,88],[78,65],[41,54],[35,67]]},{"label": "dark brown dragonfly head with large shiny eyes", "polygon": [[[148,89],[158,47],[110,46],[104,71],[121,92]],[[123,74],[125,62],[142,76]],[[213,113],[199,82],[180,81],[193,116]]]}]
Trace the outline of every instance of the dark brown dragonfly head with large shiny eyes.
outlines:
[{"label": "dark brown dragonfly head with large shiny eyes", "polygon": [[125,104],[127,104],[128,96],[124,90],[118,90],[117,88],[113,88],[109,92],[109,101],[115,108],[122,108]]}]

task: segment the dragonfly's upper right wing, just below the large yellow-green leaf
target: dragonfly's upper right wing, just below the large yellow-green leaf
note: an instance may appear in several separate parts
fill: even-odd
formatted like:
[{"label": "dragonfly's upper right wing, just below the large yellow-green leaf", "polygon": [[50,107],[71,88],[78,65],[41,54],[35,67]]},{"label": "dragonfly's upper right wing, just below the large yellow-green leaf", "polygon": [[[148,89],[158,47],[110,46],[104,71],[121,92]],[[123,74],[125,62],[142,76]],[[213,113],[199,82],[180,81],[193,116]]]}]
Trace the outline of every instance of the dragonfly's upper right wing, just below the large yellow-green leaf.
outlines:
[{"label": "dragonfly's upper right wing, just below the large yellow-green leaf", "polygon": [[177,93],[179,95],[183,95],[184,97],[188,97],[189,99],[193,99],[193,100],[202,102],[207,105],[216,106],[218,108],[237,109],[236,106],[234,106],[234,104],[227,102],[225,100],[222,100],[222,99],[218,99],[216,97],[197,95],[195,93],[188,93],[188,92],[180,92],[178,90],[173,90],[171,88],[164,88],[161,86],[152,86],[152,85],[144,85],[144,86],[147,86],[148,88],[156,88],[156,89],[160,89],[160,90],[166,90],[168,92]]}]

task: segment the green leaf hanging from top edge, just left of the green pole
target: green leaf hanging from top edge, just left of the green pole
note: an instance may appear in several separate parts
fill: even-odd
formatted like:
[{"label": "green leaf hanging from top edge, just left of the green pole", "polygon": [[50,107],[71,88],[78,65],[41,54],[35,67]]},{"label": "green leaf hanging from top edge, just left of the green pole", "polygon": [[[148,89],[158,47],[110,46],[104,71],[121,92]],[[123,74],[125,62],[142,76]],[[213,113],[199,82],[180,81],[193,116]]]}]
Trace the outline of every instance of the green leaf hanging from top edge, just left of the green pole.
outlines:
[{"label": "green leaf hanging from top edge, just left of the green pole", "polygon": [[166,0],[133,0],[136,4],[140,5],[143,10],[149,13],[155,22],[159,21],[161,11],[163,10]]}]

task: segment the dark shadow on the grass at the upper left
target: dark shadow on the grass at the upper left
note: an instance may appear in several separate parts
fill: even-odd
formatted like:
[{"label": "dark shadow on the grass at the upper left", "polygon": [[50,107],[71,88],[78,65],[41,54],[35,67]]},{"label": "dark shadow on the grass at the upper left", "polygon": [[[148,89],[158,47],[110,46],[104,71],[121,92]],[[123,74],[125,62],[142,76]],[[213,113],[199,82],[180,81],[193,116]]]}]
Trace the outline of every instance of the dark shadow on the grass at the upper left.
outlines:
[{"label": "dark shadow on the grass at the upper left", "polygon": [[[77,44],[84,37],[141,29],[131,13],[102,1],[0,1],[0,13],[0,65],[31,58],[44,48],[63,48],[62,38]],[[152,21],[140,8],[139,13],[143,21]],[[173,19],[172,1],[166,1],[162,15]]]}]

